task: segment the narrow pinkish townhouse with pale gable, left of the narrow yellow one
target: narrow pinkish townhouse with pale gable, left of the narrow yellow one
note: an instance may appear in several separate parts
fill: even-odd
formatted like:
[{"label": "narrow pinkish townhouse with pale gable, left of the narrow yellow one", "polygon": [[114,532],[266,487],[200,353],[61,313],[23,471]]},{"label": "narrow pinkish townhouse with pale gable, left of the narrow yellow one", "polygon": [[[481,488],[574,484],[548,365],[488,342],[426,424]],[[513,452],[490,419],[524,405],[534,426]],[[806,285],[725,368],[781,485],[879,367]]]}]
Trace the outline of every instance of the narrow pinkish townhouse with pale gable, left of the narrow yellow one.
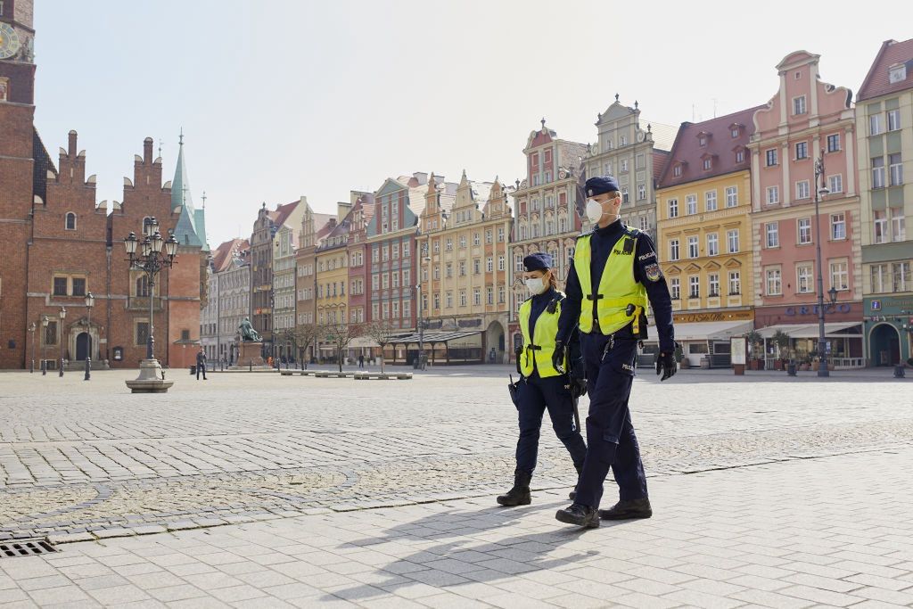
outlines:
[{"label": "narrow pinkish townhouse with pale gable, left of the narrow yellow one", "polygon": [[[301,234],[299,247],[295,251],[295,297],[296,334],[309,331],[317,323],[317,247],[333,228],[333,215],[315,214],[310,205],[305,205],[301,216]],[[309,332],[310,333],[310,332]],[[317,345],[311,342],[307,348],[301,347],[296,340],[296,358],[306,362],[316,360]]]}]

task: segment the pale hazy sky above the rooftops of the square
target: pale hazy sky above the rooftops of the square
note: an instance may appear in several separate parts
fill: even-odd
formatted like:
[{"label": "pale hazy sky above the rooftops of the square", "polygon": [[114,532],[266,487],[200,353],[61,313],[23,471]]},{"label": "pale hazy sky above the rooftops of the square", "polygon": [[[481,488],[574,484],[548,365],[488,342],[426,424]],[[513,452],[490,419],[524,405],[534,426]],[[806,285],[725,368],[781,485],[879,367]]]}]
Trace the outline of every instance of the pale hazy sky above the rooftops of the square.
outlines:
[{"label": "pale hazy sky above the rooftops of the square", "polygon": [[79,131],[99,200],[118,201],[147,136],[171,179],[183,126],[216,247],[249,236],[262,202],[330,212],[419,171],[513,183],[542,117],[593,142],[616,92],[645,122],[709,119],[770,100],[774,66],[804,48],[855,93],[881,42],[913,34],[887,6],[740,6],[37,0],[37,126],[55,159]]}]

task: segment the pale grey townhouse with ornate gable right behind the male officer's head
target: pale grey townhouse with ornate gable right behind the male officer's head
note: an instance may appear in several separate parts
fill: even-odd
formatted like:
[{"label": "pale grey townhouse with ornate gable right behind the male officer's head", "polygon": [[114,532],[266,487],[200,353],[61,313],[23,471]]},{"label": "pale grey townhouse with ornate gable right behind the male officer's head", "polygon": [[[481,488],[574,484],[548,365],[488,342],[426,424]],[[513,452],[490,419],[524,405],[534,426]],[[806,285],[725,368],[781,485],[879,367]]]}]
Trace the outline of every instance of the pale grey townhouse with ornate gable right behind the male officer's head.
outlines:
[{"label": "pale grey townhouse with ornate gable right behind the male officer's head", "polygon": [[676,139],[676,128],[643,124],[639,104],[614,103],[596,119],[597,141],[583,156],[586,176],[614,175],[622,189],[622,219],[628,226],[656,236],[656,183]]}]

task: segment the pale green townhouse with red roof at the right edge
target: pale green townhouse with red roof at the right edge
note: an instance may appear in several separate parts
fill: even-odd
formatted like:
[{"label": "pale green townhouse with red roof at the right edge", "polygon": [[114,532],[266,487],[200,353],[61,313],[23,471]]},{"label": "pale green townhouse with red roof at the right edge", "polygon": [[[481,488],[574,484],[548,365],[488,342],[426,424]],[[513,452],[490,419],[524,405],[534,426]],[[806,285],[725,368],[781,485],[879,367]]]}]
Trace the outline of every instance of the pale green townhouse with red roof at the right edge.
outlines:
[{"label": "pale green townhouse with red roof at the right edge", "polygon": [[866,357],[885,366],[913,357],[913,39],[881,46],[855,111]]}]

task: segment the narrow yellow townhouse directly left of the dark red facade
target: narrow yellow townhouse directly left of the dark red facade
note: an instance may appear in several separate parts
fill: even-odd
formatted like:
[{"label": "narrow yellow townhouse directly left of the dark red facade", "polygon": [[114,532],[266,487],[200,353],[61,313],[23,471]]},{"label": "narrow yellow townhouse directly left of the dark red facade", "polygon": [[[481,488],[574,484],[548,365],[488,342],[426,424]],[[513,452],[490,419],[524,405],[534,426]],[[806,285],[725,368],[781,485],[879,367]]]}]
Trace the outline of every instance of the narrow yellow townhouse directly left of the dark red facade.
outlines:
[{"label": "narrow yellow townhouse directly left of the dark red facade", "polygon": [[[338,204],[338,212],[331,223],[335,226],[323,238],[315,253],[317,270],[317,324],[331,329],[335,324],[347,325],[349,310],[349,212],[351,203]],[[318,351],[321,361],[334,361],[336,347],[325,337],[320,337]]]}]

